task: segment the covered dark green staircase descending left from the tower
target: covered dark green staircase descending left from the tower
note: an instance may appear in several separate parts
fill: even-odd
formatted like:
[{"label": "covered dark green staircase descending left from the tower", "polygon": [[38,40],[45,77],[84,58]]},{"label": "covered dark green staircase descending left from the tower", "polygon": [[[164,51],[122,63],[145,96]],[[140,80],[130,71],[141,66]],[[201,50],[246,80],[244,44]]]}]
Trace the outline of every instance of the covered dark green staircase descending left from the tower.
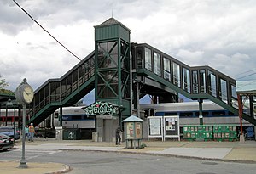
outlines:
[{"label": "covered dark green staircase descending left from the tower", "polygon": [[95,87],[95,53],[90,53],[64,76],[49,79],[35,91],[27,123],[40,124],[56,109],[76,104]]}]

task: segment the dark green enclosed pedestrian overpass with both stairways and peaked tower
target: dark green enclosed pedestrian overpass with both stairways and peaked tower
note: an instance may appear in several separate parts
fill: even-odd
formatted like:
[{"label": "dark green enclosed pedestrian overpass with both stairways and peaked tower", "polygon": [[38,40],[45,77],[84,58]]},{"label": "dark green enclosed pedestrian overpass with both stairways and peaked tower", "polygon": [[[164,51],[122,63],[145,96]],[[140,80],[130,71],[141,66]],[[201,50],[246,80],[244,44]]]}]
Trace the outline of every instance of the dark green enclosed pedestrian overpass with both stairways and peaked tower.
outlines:
[{"label": "dark green enclosed pedestrian overpass with both stairways and peaked tower", "polygon": [[[103,30],[104,27],[105,30],[108,27],[108,31],[110,30],[108,36],[114,37],[115,34],[112,32],[116,30],[113,29],[116,25],[123,27],[120,31],[125,29],[128,32],[124,25],[113,18],[99,25],[96,30]],[[135,109],[138,109],[136,106],[139,98],[143,98],[146,94],[157,98],[154,102],[159,103],[177,102],[178,94],[198,100],[199,104],[204,99],[208,99],[238,115],[236,80],[230,76],[207,65],[186,65],[147,43],[130,43],[130,37],[126,42],[122,39],[117,42],[109,41],[109,38],[104,36],[104,32],[99,32],[96,33],[98,40],[95,51],[67,71],[65,75],[49,79],[38,87],[32,103],[28,106],[30,120],[27,122],[33,122],[37,126],[56,109],[76,104],[93,89],[96,89],[96,93],[100,96],[99,93],[103,93],[101,92],[103,88],[108,88],[110,97],[114,94],[122,95],[120,97],[126,98],[128,101],[122,104],[119,99],[117,102],[119,107],[122,106],[126,109],[123,117],[119,118],[121,120],[131,114],[132,104],[135,105]],[[118,35],[122,35],[122,33],[116,32]],[[103,41],[108,42],[108,45],[104,45]],[[115,50],[115,48],[117,49]],[[113,71],[115,70],[113,69],[113,60],[115,59],[118,59],[120,64],[117,64],[118,69]],[[129,64],[129,60],[131,64]],[[123,76],[124,74],[119,73],[125,65],[126,71]],[[109,73],[110,71],[112,74]],[[100,82],[105,86],[99,86]],[[119,85],[114,86],[115,83]],[[131,105],[128,107],[126,104],[129,101]],[[256,125],[254,114],[243,113],[242,118]]]}]

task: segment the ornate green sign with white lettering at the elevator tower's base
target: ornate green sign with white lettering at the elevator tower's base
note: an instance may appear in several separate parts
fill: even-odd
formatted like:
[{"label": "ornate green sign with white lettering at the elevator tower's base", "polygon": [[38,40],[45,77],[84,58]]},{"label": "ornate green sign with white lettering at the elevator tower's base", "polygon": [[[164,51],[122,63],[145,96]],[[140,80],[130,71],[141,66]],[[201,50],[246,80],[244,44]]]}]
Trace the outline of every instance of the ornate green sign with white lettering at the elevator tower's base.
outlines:
[{"label": "ornate green sign with white lettering at the elevator tower's base", "polygon": [[96,102],[83,108],[86,115],[118,115],[119,107],[108,102]]}]

